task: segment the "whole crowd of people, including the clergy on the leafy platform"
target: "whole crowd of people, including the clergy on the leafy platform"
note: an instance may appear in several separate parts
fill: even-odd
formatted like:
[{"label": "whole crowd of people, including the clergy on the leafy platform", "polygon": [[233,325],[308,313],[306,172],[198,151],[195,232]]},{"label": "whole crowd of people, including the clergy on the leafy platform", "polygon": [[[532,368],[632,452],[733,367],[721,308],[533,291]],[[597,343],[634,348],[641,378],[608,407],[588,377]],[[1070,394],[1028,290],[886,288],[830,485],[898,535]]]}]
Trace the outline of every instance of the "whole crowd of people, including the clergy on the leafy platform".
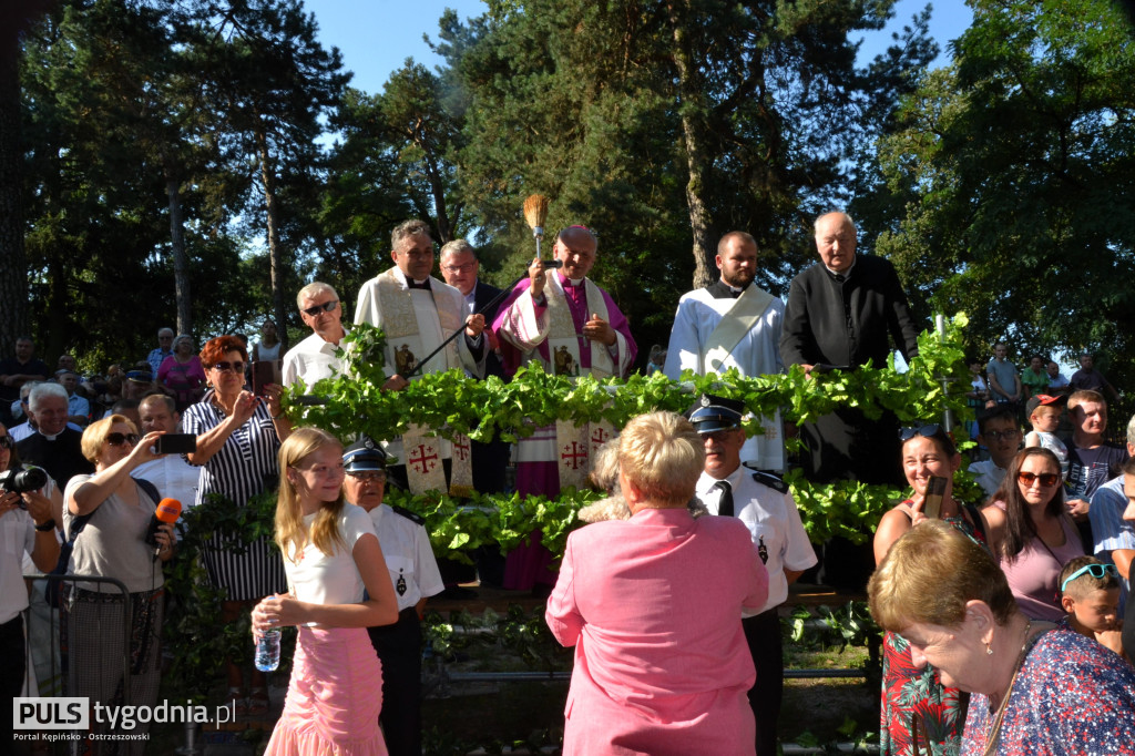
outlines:
[{"label": "whole crowd of people, including the clergy on the leafy platform", "polygon": [[[723,236],[720,279],[681,297],[669,345],[651,350],[653,368],[676,379],[688,369],[759,376],[799,364],[812,379],[882,366],[894,348],[915,356],[922,329],[893,267],[857,252],[855,225],[842,212],[816,219],[815,243],[819,261],[793,279],[785,304],[754,283],[756,240]],[[507,379],[529,363],[557,375],[625,376],[638,347],[617,303],[588,277],[597,254],[596,235],[570,226],[556,235],[554,266],[536,259],[502,292],[479,280],[477,251],[460,240],[440,251],[445,280],[434,277],[429,226],[401,224],[392,234],[394,266],[363,285],[354,314],[355,324],[386,335],[381,388],[398,392],[452,368]],[[14,360],[0,362],[0,472],[44,471],[27,490],[8,486],[0,498],[0,529],[11,545],[3,574],[26,556],[28,569],[75,577],[60,599],[68,690],[112,702],[121,692],[114,680],[125,675],[132,703],[157,696],[160,561],[176,558],[171,529],[150,524],[162,498],[242,507],[278,490],[276,547],[218,536],[203,555],[210,582],[225,590],[225,621],[251,612],[258,638],[300,628],[270,753],[420,754],[419,622],[445,580],[421,522],[382,504],[387,482],[413,493],[499,493],[512,454],[520,494],[556,496],[587,485],[605,450],[603,487],[617,505],[570,536],[558,571],[536,532],[506,556],[499,577],[505,588],[548,596],[549,628],[575,646],[565,753],[773,756],[783,686],[779,607],[817,564],[830,582],[839,578],[856,590],[875,569],[872,607],[888,630],[882,753],[1008,754],[1019,753],[1019,742],[1054,742],[1056,734],[1029,723],[1029,707],[1041,704],[1019,691],[1025,678],[1035,691],[1046,675],[1084,670],[1107,680],[1067,687],[1061,705],[1126,713],[1126,723],[1104,723],[1107,742],[1126,745],[1093,750],[1076,740],[1083,732],[1069,730],[1058,734],[1070,750],[1052,753],[1135,753],[1135,675],[1124,662],[1135,644],[1125,646],[1121,636],[1135,621],[1119,619],[1135,605],[1126,600],[1135,557],[1135,418],[1127,450],[1104,442],[1101,392],[1115,389],[1091,355],[1067,386],[1040,355],[1018,371],[1004,344],[984,375],[981,361],[970,361],[980,409],[973,432],[989,459],[968,470],[985,501],[955,495],[962,459],[941,426],[900,429],[892,413],[871,418],[852,408],[801,425],[794,431],[808,479],[905,480],[913,490],[882,518],[873,549],[826,544],[817,554],[781,477],[793,429],[774,413],[757,418],[762,432],[747,438],[745,405],[712,394],[684,418],[653,413],[622,429],[555,423],[514,450],[418,426],[381,444],[296,428],[281,411],[281,385],[311,390],[340,372],[337,348],[351,328],[328,284],[303,287],[296,304],[311,334],[285,351],[276,324],[263,324],[251,361],[270,364],[272,379],[260,392],[250,390],[245,339],[219,336],[197,351],[191,336],[168,328],[145,360],[116,366],[104,379],[78,376],[70,355],[52,373],[26,338]],[[1061,435],[1062,422],[1070,435]],[[192,437],[190,447],[159,453],[161,437],[177,432]],[[909,541],[922,546],[902,546]],[[907,561],[933,557],[927,569],[944,570],[974,549],[984,561],[972,574],[955,570],[965,574],[942,602],[910,593],[925,586],[905,577]],[[1077,561],[1090,555],[1098,558]],[[107,593],[95,578],[120,581],[125,595]],[[5,585],[0,631],[23,644],[26,593]],[[120,627],[112,633],[90,631],[115,612]],[[1056,629],[1048,632],[1046,622]],[[91,674],[75,661],[74,650],[101,657],[103,645],[124,636],[128,670],[119,661]],[[976,664],[982,644],[989,674],[974,677],[966,665]],[[1063,650],[1081,666],[1053,667]],[[19,670],[2,672],[12,695],[22,658]],[[238,714],[268,709],[262,673],[229,662],[227,678]],[[967,692],[975,694],[968,709]],[[985,751],[986,744],[994,749]]]}]

